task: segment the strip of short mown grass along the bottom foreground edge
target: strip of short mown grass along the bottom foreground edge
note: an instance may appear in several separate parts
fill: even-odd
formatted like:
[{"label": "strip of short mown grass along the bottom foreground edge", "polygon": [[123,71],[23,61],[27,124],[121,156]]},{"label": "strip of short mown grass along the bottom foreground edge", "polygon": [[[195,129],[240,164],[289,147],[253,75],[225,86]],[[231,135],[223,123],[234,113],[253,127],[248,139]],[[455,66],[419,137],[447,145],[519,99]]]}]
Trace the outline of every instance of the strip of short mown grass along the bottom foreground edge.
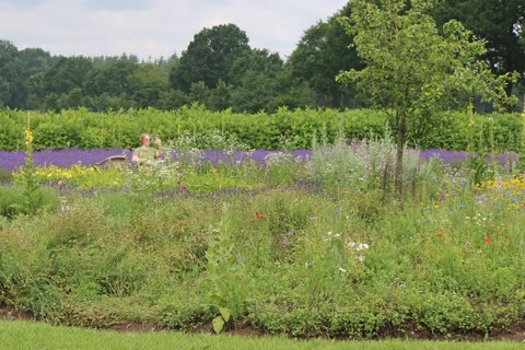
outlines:
[{"label": "strip of short mown grass along the bottom foreground edge", "polygon": [[182,332],[117,334],[31,322],[0,322],[0,349],[523,349],[506,341],[298,341]]}]

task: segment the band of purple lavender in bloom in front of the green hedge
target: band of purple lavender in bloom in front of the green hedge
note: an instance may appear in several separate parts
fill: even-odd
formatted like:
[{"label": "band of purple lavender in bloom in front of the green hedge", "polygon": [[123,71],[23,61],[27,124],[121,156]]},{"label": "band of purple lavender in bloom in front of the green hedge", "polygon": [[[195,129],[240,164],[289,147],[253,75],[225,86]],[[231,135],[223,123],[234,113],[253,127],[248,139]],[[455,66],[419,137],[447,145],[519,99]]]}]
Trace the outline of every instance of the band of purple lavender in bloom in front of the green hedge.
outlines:
[{"label": "band of purple lavender in bloom in front of the green hedge", "polygon": [[[131,159],[131,152],[124,151],[121,149],[114,150],[80,150],[80,149],[67,149],[67,150],[44,150],[34,152],[33,158],[35,164],[38,166],[56,165],[60,167],[70,167],[79,162],[82,165],[93,165],[104,161],[108,156],[113,155],[126,155],[128,160]],[[436,156],[440,158],[445,164],[458,164],[465,161],[469,155],[467,152],[454,152],[445,150],[427,150],[420,152],[420,158],[423,161]],[[0,151],[0,168],[7,171],[13,171],[25,164],[25,153],[21,151],[8,152]],[[253,160],[258,164],[265,165],[268,160],[279,159],[294,159],[301,162],[307,162],[312,159],[312,151],[308,150],[295,150],[295,151],[265,151],[256,150],[253,152],[236,151],[226,152],[223,150],[202,150],[197,152],[179,152],[175,153],[174,160],[185,160],[191,163],[205,163],[211,162],[217,165],[220,162],[241,164],[247,160]],[[489,161],[491,159],[489,158]],[[514,152],[505,152],[498,155],[497,160],[500,164],[508,164],[509,162],[517,161],[517,154]]]}]

